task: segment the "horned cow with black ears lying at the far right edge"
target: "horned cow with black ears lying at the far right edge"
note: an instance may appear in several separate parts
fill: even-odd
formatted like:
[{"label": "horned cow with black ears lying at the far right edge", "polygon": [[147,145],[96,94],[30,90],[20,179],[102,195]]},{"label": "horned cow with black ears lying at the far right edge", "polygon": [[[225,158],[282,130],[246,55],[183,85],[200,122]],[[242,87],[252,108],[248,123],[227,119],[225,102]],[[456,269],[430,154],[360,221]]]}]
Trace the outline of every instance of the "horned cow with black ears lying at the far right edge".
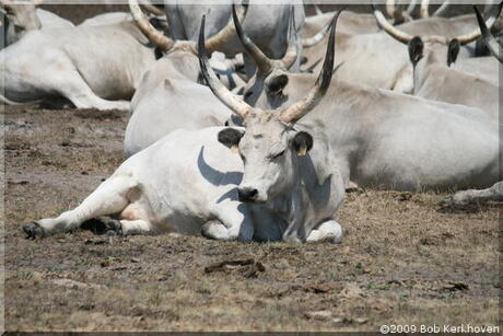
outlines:
[{"label": "horned cow with black ears lying at the far right edge", "polygon": [[[500,11],[501,5],[496,14],[488,20],[489,26],[495,22]],[[480,37],[478,30],[452,39],[443,36],[419,37],[393,27],[376,9],[374,14],[389,35],[408,44],[409,57],[414,67],[413,93],[417,96],[479,107],[495,119],[499,118],[498,61],[491,57],[483,57],[456,62],[460,45]],[[480,13],[477,14],[480,16]]]}]

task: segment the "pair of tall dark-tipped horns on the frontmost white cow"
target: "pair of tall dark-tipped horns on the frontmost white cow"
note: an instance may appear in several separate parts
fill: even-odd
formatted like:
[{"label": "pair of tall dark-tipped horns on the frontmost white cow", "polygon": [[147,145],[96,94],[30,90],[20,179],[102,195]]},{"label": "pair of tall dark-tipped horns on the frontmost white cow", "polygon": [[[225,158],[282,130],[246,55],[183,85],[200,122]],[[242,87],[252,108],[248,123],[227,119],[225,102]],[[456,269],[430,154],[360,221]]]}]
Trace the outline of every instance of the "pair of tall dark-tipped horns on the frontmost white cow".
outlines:
[{"label": "pair of tall dark-tipped horns on the frontmost white cow", "polygon": [[[234,11],[234,9],[233,9]],[[294,103],[290,107],[277,108],[273,111],[261,111],[254,108],[245,103],[243,100],[236,97],[225,88],[217,78],[217,74],[211,69],[208,60],[208,55],[204,48],[204,20],[206,16],[202,16],[201,30],[199,32],[199,65],[201,67],[201,73],[204,77],[208,85],[214,95],[229,108],[231,108],[236,115],[245,119],[250,111],[260,111],[262,113],[271,113],[278,115],[280,120],[283,123],[295,123],[296,120],[304,117],[309,113],[321,100],[321,97],[327,92],[327,89],[330,84],[334,69],[334,51],[335,51],[335,35],[336,35],[336,25],[337,19],[339,18],[340,11],[334,15],[330,26],[330,38],[327,45],[327,51],[325,55],[325,62],[320,74],[316,81],[315,86],[309,91],[309,93],[302,99],[301,101]]]}]

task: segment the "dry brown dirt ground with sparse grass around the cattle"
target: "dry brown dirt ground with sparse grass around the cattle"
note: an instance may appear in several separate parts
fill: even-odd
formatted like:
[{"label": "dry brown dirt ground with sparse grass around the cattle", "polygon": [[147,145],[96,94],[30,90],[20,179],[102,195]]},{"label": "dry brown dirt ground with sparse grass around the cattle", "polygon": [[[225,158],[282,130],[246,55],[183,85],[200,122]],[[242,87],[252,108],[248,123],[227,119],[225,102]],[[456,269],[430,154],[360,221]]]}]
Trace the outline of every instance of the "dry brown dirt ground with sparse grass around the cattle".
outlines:
[{"label": "dry brown dirt ground with sparse grass around the cattle", "polygon": [[[348,195],[342,244],[108,237],[26,240],[122,161],[124,112],[4,108],[7,331],[377,331],[498,325],[501,204]],[[218,265],[223,262],[229,265]]]}]

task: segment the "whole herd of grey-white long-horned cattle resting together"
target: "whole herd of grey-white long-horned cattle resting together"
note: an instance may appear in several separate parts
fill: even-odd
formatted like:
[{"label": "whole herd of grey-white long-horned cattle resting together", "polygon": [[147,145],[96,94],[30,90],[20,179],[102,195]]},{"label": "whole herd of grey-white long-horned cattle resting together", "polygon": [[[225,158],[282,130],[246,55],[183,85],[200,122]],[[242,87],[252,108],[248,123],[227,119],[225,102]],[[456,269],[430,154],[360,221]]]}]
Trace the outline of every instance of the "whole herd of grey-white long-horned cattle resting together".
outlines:
[{"label": "whole herd of grey-white long-horned cattle resting together", "polygon": [[350,183],[503,200],[502,3],[445,19],[447,3],[430,16],[422,1],[413,20],[394,1],[386,19],[373,5],[306,18],[302,3],[129,0],[74,26],[0,0],[4,104],[130,113],[117,171],[23,230],[106,217],[110,234],[340,242]]}]

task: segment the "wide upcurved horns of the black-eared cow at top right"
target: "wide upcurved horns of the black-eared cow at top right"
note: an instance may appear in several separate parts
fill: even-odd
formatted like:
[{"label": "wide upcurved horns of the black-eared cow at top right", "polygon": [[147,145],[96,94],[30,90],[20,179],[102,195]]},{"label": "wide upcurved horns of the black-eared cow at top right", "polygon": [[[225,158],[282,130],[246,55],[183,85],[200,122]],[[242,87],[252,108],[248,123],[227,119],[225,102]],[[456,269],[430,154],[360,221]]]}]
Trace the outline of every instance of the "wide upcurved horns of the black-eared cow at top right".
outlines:
[{"label": "wide upcurved horns of the black-eared cow at top right", "polygon": [[[502,4],[503,4],[503,2],[500,3],[496,13],[494,13],[493,15],[491,15],[487,20],[486,25],[488,27],[491,27],[496,22],[496,19],[500,15],[500,12],[501,12],[501,9],[502,9]],[[372,3],[372,10],[374,12],[375,19],[377,20],[377,24],[381,26],[381,28],[383,28],[386,33],[388,33],[395,39],[397,39],[397,40],[399,40],[401,43],[408,44],[414,37],[414,36],[410,35],[408,33],[405,33],[405,32],[400,31],[399,28],[393,26],[391,24],[389,24],[386,21],[386,19],[384,18],[383,13],[373,3]],[[459,35],[459,36],[456,36],[456,37],[454,37],[452,39],[457,39],[460,45],[466,45],[466,44],[468,44],[470,42],[476,40],[479,37],[480,37],[480,30],[475,30],[473,32],[471,32],[469,34]],[[424,37],[421,37],[421,38],[424,42],[443,42],[443,43],[447,42],[446,38],[443,38],[441,36],[424,36]]]}]

